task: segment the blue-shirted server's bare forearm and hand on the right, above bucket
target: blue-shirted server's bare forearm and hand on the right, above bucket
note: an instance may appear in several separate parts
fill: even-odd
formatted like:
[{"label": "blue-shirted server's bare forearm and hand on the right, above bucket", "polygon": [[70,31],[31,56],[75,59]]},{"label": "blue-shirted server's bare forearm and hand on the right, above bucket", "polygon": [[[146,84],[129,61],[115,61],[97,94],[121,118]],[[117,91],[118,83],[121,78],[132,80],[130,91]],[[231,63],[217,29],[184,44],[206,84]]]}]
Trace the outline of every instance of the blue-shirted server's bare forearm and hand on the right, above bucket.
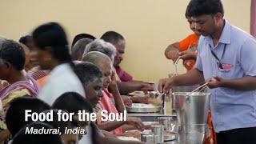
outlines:
[{"label": "blue-shirted server's bare forearm and hand on the right, above bucket", "polygon": [[228,87],[234,90],[256,90],[256,77],[245,76],[236,79],[223,79],[219,76],[214,76],[209,82],[209,87]]}]

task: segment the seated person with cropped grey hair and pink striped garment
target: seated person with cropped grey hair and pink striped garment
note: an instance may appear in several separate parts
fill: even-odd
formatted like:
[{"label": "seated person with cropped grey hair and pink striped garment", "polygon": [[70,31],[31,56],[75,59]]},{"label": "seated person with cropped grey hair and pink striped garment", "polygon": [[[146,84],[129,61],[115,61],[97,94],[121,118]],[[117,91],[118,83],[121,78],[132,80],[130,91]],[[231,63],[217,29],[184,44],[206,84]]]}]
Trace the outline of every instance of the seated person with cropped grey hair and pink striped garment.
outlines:
[{"label": "seated person with cropped grey hair and pink striped garment", "polygon": [[[111,82],[111,67],[112,67],[112,62],[110,61],[110,58],[106,56],[106,54],[102,54],[100,52],[90,52],[86,54],[86,56],[83,58],[85,62],[92,62],[94,65],[98,66],[100,70],[102,70],[102,73],[104,75],[104,80],[103,80],[103,88],[105,90],[102,90],[102,98],[99,101],[99,107],[98,110],[95,107],[96,111],[98,111],[98,126],[102,130],[107,130],[107,131],[112,131],[113,134],[122,134],[123,130],[122,127],[124,124],[129,124],[133,125],[135,128],[138,130],[142,130],[144,128],[144,125],[142,124],[141,119],[139,118],[127,118],[127,121],[107,121],[107,122],[102,122],[101,117],[102,117],[102,110],[107,110],[108,113],[114,113],[114,114],[124,114],[124,110],[126,110],[122,99],[120,97],[120,94],[114,94],[113,96],[116,97],[115,99],[117,100],[115,104],[110,100],[110,96],[112,96],[110,93],[107,93],[106,88],[109,85],[112,85],[113,87],[115,86],[115,92],[118,93],[117,86],[114,85],[113,83],[110,84]],[[78,76],[79,77],[79,76]],[[94,106],[96,104],[94,103]],[[122,134],[123,135],[123,134]]]}]

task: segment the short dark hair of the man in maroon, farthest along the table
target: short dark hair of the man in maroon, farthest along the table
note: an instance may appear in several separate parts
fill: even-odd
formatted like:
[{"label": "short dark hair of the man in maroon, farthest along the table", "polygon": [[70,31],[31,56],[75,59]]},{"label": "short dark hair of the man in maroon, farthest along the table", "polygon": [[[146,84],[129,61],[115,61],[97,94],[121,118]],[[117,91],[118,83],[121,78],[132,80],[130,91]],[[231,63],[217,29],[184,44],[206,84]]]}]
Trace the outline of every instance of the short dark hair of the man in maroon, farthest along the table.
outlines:
[{"label": "short dark hair of the man in maroon, farthest along the table", "polygon": [[103,39],[105,42],[110,42],[112,45],[116,45],[118,42],[125,40],[121,34],[118,34],[115,31],[107,31],[102,35],[101,39]]}]

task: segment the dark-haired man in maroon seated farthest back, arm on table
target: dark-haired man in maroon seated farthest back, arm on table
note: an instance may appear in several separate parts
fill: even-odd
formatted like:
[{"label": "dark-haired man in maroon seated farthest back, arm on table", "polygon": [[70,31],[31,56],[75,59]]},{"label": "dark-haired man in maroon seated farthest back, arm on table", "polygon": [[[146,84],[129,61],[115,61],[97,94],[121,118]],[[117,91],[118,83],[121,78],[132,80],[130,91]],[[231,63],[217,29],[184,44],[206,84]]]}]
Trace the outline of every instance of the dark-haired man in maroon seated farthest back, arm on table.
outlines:
[{"label": "dark-haired man in maroon seated farthest back, arm on table", "polygon": [[134,81],[132,76],[125,70],[122,70],[120,63],[122,62],[122,54],[125,54],[126,41],[121,34],[114,31],[108,31],[102,35],[105,42],[110,42],[117,49],[117,55],[114,57],[114,68],[121,79],[118,82],[118,88],[121,94],[129,94],[135,90],[153,90],[153,88],[146,82]]}]

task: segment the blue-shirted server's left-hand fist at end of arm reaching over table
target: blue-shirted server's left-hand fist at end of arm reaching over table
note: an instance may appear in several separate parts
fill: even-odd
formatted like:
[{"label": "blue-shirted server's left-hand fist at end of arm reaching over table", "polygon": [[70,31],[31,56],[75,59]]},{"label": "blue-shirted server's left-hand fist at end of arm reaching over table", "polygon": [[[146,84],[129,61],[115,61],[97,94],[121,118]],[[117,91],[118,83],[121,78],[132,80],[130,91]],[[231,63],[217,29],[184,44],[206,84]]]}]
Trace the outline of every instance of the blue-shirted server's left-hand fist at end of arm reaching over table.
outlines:
[{"label": "blue-shirted server's left-hand fist at end of arm reaching over table", "polygon": [[160,93],[166,93],[170,90],[170,88],[174,85],[173,78],[163,78],[158,82],[158,91]]}]

